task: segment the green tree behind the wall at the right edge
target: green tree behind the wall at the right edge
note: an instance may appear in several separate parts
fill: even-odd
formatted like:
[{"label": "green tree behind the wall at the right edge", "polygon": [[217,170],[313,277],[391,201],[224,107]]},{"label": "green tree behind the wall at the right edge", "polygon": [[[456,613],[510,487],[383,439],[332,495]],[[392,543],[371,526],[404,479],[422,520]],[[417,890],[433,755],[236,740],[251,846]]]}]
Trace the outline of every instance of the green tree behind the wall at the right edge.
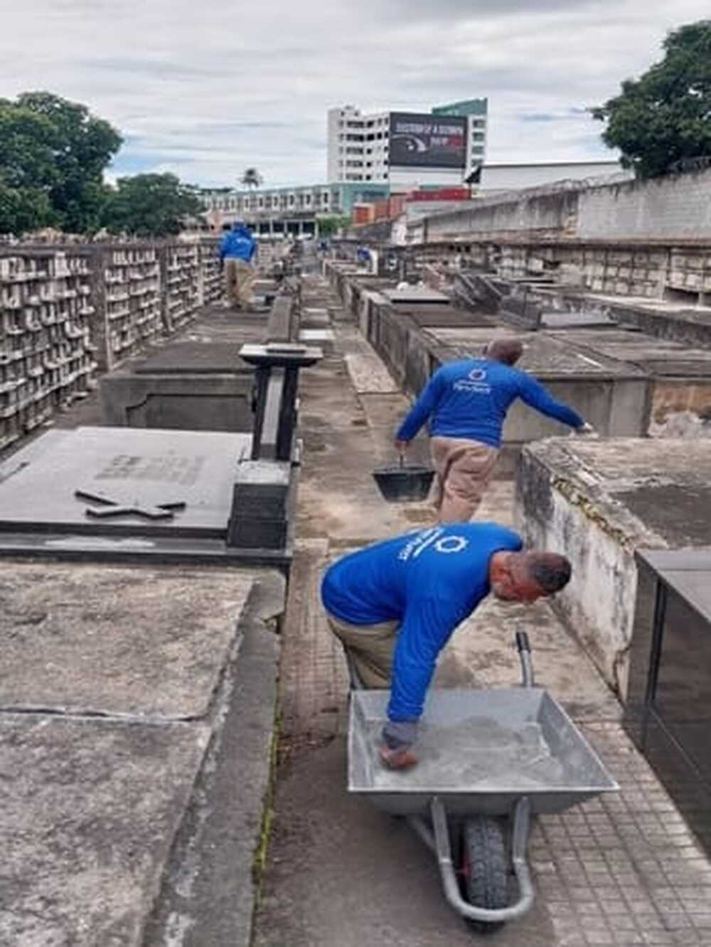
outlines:
[{"label": "green tree behind the wall at the right edge", "polygon": [[607,122],[602,140],[641,178],[664,174],[684,158],[711,156],[711,20],[667,34],[664,59],[593,116]]}]

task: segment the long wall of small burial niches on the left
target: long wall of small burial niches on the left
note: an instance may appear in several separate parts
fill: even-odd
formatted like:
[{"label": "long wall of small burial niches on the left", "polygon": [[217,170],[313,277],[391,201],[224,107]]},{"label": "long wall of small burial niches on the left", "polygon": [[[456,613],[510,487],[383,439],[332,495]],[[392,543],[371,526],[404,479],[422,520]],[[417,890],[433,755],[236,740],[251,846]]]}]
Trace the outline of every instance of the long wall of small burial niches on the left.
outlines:
[{"label": "long wall of small burial niches on the left", "polygon": [[216,245],[0,248],[0,449],[216,299]]}]

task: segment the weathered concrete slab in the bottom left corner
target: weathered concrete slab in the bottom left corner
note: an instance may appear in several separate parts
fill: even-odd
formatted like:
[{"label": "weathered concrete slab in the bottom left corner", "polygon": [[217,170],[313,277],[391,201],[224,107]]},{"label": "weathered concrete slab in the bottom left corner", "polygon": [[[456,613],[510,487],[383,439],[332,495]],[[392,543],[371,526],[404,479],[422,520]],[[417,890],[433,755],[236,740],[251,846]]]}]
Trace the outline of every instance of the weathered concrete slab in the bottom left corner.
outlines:
[{"label": "weathered concrete slab in the bottom left corner", "polygon": [[140,944],[209,734],[0,715],[0,942]]}]

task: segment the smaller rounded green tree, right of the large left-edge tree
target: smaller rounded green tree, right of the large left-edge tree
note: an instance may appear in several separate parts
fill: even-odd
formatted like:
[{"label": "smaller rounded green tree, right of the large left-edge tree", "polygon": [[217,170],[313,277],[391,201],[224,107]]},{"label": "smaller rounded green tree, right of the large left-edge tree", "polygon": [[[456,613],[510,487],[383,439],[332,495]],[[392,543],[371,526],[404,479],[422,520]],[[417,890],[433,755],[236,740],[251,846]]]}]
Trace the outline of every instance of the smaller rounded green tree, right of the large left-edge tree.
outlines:
[{"label": "smaller rounded green tree, right of the large left-edge tree", "polygon": [[183,184],[174,174],[135,174],[116,181],[102,221],[112,233],[169,237],[181,232],[187,217],[203,211],[197,188]]}]

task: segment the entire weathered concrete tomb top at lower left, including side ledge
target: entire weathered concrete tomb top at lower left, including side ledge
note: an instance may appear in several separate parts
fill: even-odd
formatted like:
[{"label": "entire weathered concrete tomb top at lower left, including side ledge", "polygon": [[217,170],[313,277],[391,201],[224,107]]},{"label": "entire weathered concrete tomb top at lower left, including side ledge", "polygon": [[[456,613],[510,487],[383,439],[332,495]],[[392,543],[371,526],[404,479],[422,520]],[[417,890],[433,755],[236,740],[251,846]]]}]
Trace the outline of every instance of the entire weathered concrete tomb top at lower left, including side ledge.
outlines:
[{"label": "entire weathered concrete tomb top at lower left, including side ledge", "polygon": [[268,570],[3,564],[0,943],[248,947],[283,608]]}]

